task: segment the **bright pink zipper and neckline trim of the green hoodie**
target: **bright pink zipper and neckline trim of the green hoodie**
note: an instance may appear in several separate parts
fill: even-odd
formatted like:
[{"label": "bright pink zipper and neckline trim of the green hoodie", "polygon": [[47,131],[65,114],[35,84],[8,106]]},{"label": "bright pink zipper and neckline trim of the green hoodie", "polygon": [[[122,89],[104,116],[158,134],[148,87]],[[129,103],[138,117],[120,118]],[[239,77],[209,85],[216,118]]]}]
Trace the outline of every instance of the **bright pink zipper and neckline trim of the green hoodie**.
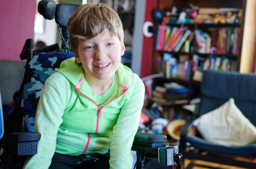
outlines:
[{"label": "bright pink zipper and neckline trim of the green hoodie", "polygon": [[[101,116],[101,113],[102,113],[102,109],[103,109],[107,104],[109,104],[110,102],[112,102],[112,101],[114,101],[115,99],[118,99],[119,97],[121,97],[122,95],[124,95],[125,92],[128,90],[128,86],[127,86],[127,85],[124,85],[124,84],[122,84],[122,83],[119,82],[119,85],[120,85],[121,87],[123,87],[123,92],[121,93],[121,95],[118,96],[118,97],[116,97],[115,99],[113,99],[113,100],[107,102],[102,108],[100,108],[100,107],[97,105],[97,103],[96,103],[95,101],[93,101],[90,97],[88,97],[87,95],[85,95],[84,93],[82,93],[82,92],[80,91],[80,88],[79,88],[78,86],[79,86],[80,84],[82,84],[83,81],[84,81],[84,76],[83,76],[82,79],[75,85],[75,88],[77,89],[77,91],[78,91],[79,93],[81,93],[82,95],[84,95],[85,97],[87,97],[88,99],[90,99],[90,100],[97,106],[97,108],[98,108],[98,115],[97,115],[96,131],[95,131],[95,133],[98,133],[98,130],[99,130],[99,121],[100,121],[100,116]],[[88,147],[89,147],[89,143],[90,143],[90,133],[88,133],[87,144],[86,144],[86,146],[85,146],[84,151],[83,151],[82,154],[86,153],[86,151],[87,151],[87,149],[88,149]]]}]

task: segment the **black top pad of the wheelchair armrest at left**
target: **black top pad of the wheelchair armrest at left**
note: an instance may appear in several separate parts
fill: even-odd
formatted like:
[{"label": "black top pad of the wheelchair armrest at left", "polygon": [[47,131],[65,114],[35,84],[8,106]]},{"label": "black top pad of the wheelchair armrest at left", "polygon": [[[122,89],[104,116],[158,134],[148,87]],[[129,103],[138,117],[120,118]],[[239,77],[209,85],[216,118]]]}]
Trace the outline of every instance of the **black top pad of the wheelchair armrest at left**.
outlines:
[{"label": "black top pad of the wheelchair armrest at left", "polygon": [[15,133],[8,133],[4,137],[5,142],[37,142],[41,138],[40,133],[34,132],[15,132]]}]

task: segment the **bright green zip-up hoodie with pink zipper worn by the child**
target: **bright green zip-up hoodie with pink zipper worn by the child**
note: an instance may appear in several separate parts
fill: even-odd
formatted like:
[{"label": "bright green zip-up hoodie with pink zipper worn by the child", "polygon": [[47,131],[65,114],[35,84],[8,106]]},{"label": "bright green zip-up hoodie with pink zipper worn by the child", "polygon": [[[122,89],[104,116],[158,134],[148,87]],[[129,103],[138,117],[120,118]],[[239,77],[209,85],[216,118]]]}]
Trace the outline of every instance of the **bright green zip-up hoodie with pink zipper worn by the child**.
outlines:
[{"label": "bright green zip-up hoodie with pink zipper worn by the child", "polygon": [[45,82],[37,107],[38,153],[30,156],[23,168],[48,169],[55,152],[110,151],[111,169],[131,169],[131,146],[145,94],[139,76],[120,64],[109,89],[97,96],[74,58],[64,60],[56,71]]}]

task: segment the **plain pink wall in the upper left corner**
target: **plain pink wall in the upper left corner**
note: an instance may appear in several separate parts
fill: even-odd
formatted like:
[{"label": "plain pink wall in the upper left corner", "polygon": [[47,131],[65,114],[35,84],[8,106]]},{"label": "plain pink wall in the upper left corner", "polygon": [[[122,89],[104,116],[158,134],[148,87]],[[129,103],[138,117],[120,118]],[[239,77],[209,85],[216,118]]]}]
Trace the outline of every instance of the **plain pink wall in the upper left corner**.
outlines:
[{"label": "plain pink wall in the upper left corner", "polygon": [[20,60],[26,39],[34,38],[35,0],[5,0],[0,5],[0,60]]}]

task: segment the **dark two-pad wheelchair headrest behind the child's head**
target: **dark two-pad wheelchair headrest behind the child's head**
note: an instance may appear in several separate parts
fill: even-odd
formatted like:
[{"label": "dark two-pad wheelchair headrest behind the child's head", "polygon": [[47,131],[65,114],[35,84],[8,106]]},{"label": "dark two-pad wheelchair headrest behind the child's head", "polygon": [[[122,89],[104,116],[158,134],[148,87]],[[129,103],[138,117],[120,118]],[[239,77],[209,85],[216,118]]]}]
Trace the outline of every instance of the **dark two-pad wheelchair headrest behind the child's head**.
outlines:
[{"label": "dark two-pad wheelchair headrest behind the child's head", "polygon": [[61,27],[67,27],[68,19],[74,10],[80,5],[76,4],[57,4],[53,0],[41,0],[38,3],[38,12],[45,19],[53,19]]}]

